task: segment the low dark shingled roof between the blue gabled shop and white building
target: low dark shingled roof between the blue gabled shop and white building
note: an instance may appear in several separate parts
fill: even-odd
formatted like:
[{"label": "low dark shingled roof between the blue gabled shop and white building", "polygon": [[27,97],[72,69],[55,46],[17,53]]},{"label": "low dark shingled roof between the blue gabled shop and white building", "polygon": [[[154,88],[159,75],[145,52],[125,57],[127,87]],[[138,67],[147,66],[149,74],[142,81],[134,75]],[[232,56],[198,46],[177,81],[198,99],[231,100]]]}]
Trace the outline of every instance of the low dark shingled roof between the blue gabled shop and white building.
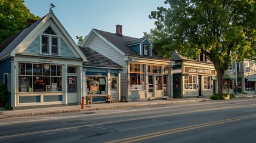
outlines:
[{"label": "low dark shingled roof between the blue gabled shop and white building", "polygon": [[87,57],[87,61],[85,62],[85,66],[91,67],[109,67],[115,69],[122,69],[123,67],[119,64],[115,63],[114,61],[110,60],[104,55],[94,51],[88,47],[79,46],[81,51],[84,53],[85,57]]}]

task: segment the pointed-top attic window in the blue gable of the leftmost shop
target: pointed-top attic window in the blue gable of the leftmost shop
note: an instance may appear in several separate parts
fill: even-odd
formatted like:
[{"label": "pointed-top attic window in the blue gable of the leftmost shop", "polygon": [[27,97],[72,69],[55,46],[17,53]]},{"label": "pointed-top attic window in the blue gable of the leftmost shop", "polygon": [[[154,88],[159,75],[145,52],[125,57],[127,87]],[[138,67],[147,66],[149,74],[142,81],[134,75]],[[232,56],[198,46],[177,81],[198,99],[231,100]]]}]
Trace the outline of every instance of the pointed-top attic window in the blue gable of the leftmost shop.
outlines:
[{"label": "pointed-top attic window in the blue gable of the leftmost shop", "polygon": [[41,35],[41,54],[58,55],[60,38],[49,26]]}]

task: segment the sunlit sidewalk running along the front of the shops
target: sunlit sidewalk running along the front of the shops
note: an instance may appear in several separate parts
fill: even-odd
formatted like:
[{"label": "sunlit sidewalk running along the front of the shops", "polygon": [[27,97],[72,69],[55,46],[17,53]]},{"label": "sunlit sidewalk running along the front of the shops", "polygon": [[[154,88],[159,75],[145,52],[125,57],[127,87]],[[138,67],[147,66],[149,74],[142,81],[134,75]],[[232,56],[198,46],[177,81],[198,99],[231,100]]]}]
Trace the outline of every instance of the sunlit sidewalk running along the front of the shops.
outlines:
[{"label": "sunlit sidewalk running along the front of the shops", "polygon": [[[243,97],[256,97],[256,95],[251,94],[239,94],[236,95],[237,98]],[[140,107],[146,105],[159,105],[159,104],[174,104],[182,102],[200,102],[210,100],[209,97],[203,98],[180,98],[173,100],[152,100],[152,101],[138,101],[138,102],[116,102],[116,103],[101,103],[101,104],[86,104],[84,109],[81,109],[81,105],[70,105],[70,106],[60,106],[60,107],[50,107],[50,108],[35,108],[26,110],[4,110],[0,108],[0,119],[10,118],[10,117],[22,117],[22,116],[33,116],[42,114],[59,114],[59,113],[71,113],[79,111],[93,111],[93,110],[105,110],[112,108],[128,108],[128,107]]]}]

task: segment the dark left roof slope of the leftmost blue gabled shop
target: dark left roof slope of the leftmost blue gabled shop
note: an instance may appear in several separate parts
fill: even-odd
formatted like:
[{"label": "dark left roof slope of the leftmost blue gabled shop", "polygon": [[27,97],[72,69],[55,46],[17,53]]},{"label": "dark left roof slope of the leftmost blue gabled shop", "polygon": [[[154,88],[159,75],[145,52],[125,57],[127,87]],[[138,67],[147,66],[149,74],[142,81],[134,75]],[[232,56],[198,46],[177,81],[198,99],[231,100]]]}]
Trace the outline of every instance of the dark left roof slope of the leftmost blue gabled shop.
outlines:
[{"label": "dark left roof slope of the leftmost blue gabled shop", "polygon": [[[48,15],[48,14],[47,14]],[[4,42],[0,45],[0,58],[10,54],[13,49],[16,48],[16,46],[23,41],[24,38],[26,38],[27,35],[29,35],[30,32],[47,16],[40,18],[38,21],[33,23],[31,26],[28,26],[24,28],[23,30],[20,30],[20,32],[15,33],[14,35],[8,37],[4,40]],[[1,50],[2,49],[2,50]]]}]

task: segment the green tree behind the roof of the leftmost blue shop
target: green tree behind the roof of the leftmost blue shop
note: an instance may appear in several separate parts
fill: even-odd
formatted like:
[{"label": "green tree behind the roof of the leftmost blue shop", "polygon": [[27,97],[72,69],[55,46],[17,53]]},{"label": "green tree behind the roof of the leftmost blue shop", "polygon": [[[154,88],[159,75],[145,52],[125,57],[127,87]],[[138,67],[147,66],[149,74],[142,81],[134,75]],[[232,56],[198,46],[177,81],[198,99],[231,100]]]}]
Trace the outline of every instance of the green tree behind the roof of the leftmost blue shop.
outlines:
[{"label": "green tree behind the roof of the leftmost blue shop", "polygon": [[0,0],[0,44],[27,26],[27,19],[40,17],[30,13],[22,0]]}]

